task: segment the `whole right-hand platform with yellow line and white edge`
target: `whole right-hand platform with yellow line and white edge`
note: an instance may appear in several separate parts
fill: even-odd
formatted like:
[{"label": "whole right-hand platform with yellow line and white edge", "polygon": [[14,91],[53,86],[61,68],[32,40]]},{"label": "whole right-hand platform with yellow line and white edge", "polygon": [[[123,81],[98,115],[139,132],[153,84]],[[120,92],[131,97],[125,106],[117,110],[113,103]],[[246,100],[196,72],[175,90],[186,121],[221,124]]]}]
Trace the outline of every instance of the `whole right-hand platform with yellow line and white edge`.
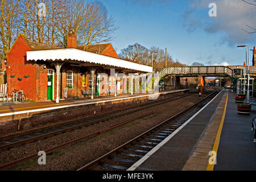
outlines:
[{"label": "whole right-hand platform with yellow line and white edge", "polygon": [[256,107],[238,114],[235,97],[222,90],[128,171],[255,171]]}]

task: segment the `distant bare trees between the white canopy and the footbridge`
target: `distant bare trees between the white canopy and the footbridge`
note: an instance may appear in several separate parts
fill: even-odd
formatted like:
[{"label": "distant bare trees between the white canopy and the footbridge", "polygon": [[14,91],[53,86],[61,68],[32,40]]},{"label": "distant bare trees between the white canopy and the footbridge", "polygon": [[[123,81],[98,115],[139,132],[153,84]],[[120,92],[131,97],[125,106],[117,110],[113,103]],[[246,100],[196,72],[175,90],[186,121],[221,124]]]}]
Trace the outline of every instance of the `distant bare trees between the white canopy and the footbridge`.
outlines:
[{"label": "distant bare trees between the white canopy and the footbridge", "polygon": [[134,63],[152,65],[154,69],[166,68],[166,57],[167,57],[167,67],[179,67],[184,64],[179,63],[179,60],[174,61],[172,56],[164,49],[152,46],[146,48],[139,43],[129,45],[128,47],[121,50],[118,55],[121,59],[131,61]]}]

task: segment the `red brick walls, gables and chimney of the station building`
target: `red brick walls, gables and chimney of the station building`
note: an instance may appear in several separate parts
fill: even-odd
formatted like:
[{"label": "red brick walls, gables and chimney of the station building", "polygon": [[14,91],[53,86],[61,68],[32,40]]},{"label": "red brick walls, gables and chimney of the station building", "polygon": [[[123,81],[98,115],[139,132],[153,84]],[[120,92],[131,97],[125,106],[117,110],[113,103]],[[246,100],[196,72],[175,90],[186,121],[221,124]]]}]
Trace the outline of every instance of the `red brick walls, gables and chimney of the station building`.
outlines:
[{"label": "red brick walls, gables and chimney of the station building", "polygon": [[[68,47],[76,47],[76,35],[68,36]],[[20,35],[16,39],[11,51],[7,53],[7,87],[8,91],[13,89],[23,90],[26,94],[28,100],[31,101],[46,101],[47,100],[47,73],[48,69],[54,70],[54,99],[56,99],[57,90],[57,75],[55,66],[52,63],[46,61],[27,61],[26,51],[32,51],[27,42]],[[119,58],[117,53],[111,44],[102,52],[102,55],[112,56]],[[68,90],[68,98],[73,98],[74,96],[79,96],[79,98],[84,98],[82,90],[89,90],[89,74],[90,69],[85,67],[71,66],[71,63],[65,63],[61,68],[59,76],[59,97],[64,98],[63,89],[67,88],[67,73],[68,71],[73,72],[73,88]],[[110,70],[104,70],[103,68],[98,68],[96,74],[105,73],[110,75]],[[11,75],[15,76],[14,78]],[[25,78],[25,75],[30,77]],[[86,75],[86,86],[82,86],[82,76]],[[96,89],[96,78],[94,75],[94,89]],[[21,81],[18,78],[22,78]],[[111,80],[111,85],[109,85],[109,79]],[[109,76],[101,77],[101,96],[106,96],[108,91],[112,90],[114,94],[115,84],[114,77]],[[122,77],[118,78],[120,82],[120,89],[118,93],[122,93]],[[105,85],[108,83],[108,86]],[[109,88],[108,88],[109,87]],[[62,93],[62,94],[61,94]],[[113,95],[112,94],[112,95]]]}]

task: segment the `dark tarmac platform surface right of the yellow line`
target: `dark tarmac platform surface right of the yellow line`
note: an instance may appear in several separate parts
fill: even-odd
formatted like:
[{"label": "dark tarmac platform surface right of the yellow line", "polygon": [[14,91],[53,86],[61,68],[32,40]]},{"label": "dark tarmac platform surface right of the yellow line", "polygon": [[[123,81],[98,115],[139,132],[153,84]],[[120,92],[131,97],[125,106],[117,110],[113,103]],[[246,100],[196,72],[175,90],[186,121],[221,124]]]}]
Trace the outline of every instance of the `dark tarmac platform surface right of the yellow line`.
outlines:
[{"label": "dark tarmac platform surface right of the yellow line", "polygon": [[251,121],[256,113],[238,114],[235,97],[236,94],[229,93],[214,171],[256,170],[256,143],[253,143],[254,132],[251,131]]}]

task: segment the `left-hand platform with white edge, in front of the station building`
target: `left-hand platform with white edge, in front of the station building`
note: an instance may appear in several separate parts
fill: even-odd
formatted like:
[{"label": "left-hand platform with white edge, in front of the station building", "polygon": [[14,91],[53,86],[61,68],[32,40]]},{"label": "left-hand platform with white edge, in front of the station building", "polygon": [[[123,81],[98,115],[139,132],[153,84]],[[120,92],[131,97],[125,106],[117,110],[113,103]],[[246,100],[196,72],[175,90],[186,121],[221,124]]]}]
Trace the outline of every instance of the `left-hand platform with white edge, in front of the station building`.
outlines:
[{"label": "left-hand platform with white edge, in front of the station building", "polygon": [[74,119],[82,119],[102,112],[121,109],[133,105],[143,104],[150,100],[170,97],[170,94],[188,92],[187,89],[170,90],[147,94],[122,94],[114,96],[100,96],[93,100],[64,100],[56,104],[52,101],[23,104],[8,104],[0,106],[0,135],[34,127],[52,125]]}]

